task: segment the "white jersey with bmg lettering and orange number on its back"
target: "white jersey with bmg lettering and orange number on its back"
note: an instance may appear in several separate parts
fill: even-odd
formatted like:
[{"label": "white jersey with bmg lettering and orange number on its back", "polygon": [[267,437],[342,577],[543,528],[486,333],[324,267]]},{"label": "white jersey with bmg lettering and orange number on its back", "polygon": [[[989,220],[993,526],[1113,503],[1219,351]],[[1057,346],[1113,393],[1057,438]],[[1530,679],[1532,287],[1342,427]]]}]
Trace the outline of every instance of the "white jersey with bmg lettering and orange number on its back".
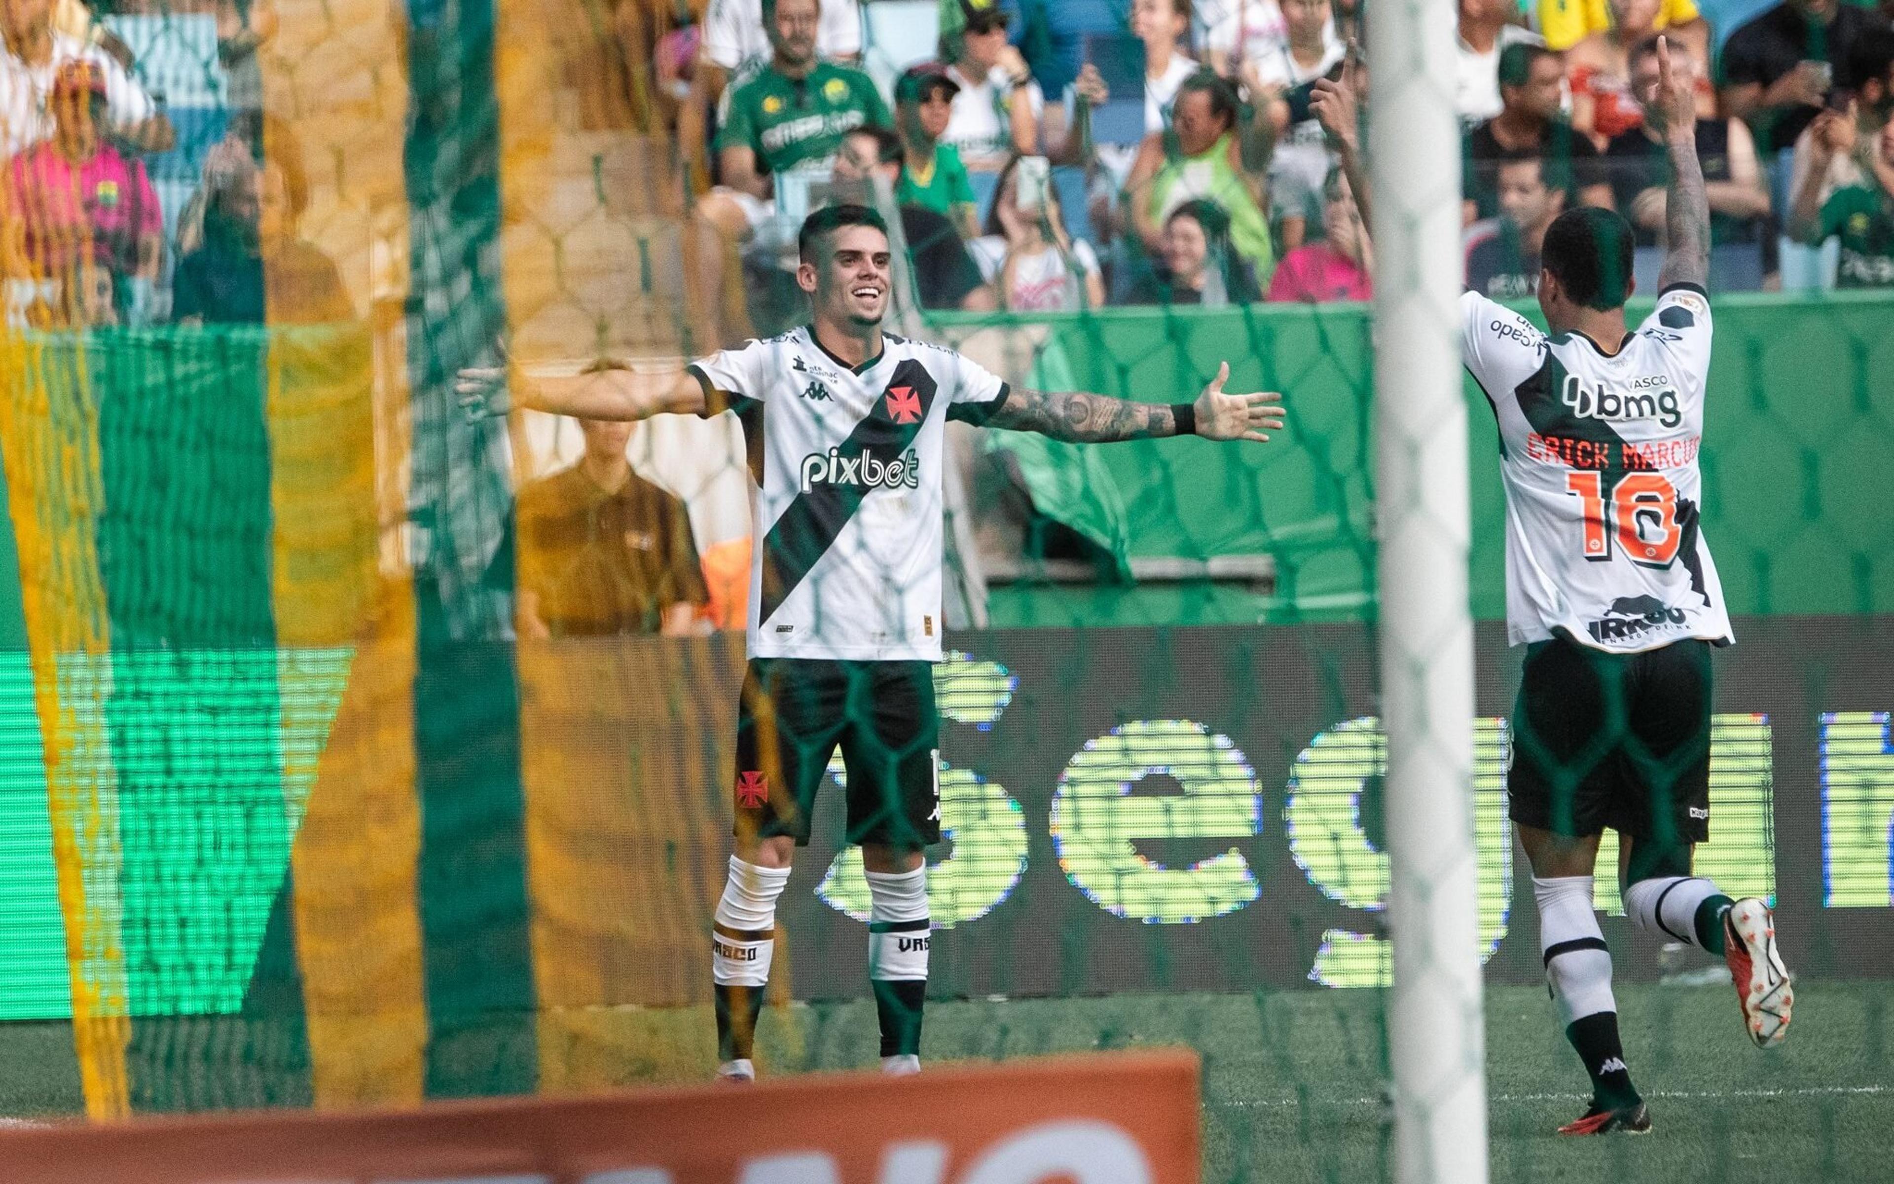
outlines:
[{"label": "white jersey with bmg lettering and orange number on its back", "polygon": [[1701,529],[1710,301],[1672,284],[1606,356],[1517,313],[1460,297],[1466,368],[1500,422],[1511,644],[1636,654],[1733,642]]}]

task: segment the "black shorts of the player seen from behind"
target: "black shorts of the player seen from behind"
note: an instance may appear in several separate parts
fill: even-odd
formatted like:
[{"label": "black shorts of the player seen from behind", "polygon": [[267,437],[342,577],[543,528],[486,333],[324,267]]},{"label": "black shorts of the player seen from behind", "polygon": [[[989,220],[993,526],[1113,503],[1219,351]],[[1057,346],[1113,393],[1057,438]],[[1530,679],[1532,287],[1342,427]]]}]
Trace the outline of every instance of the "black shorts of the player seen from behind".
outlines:
[{"label": "black shorts of the player seen from behind", "polygon": [[1506,779],[1513,822],[1638,839],[1638,862],[1710,837],[1710,642],[1527,648]]}]

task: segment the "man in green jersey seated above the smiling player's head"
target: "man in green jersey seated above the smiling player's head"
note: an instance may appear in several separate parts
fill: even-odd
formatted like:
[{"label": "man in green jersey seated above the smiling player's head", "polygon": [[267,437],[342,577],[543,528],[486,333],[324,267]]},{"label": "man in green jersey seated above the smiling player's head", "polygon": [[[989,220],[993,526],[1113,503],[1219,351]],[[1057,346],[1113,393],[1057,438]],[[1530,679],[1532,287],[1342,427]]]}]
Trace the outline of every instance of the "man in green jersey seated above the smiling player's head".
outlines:
[{"label": "man in green jersey seated above the smiling player's head", "polygon": [[701,214],[731,242],[775,220],[777,178],[828,172],[843,136],[856,127],[892,127],[875,83],[816,57],[818,0],[763,0],[769,64],[724,93],[718,169]]}]

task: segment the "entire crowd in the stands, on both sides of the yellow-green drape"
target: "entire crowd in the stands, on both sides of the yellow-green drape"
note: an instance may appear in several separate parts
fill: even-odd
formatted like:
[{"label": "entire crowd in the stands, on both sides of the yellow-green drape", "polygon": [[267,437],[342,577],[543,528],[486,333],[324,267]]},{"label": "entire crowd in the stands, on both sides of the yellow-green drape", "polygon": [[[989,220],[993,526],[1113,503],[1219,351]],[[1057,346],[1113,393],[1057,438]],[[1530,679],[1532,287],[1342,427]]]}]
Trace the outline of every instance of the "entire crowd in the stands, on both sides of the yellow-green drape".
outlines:
[{"label": "entire crowd in the stands, on both sides of the yellow-green drape", "polygon": [[[1369,296],[1366,176],[1349,176],[1345,129],[1318,110],[1341,87],[1366,117],[1366,0],[616,8],[636,13],[617,19],[625,78],[648,80],[691,208],[742,260],[759,326],[797,303],[799,216],[850,193],[898,210],[932,309]],[[1712,288],[1894,284],[1886,8],[1460,0],[1466,284],[1532,296],[1546,225],[1599,205],[1636,227],[1638,282],[1653,286],[1667,165],[1644,97],[1659,34],[1697,76]],[[216,83],[184,114],[189,142],[176,95],[167,106],[150,85],[163,63],[134,53],[138,21],[201,27],[199,74]],[[271,0],[0,8],[11,324],[354,314],[297,233],[295,138],[261,110],[277,25]],[[144,36],[144,53],[178,44],[195,42]]]}]

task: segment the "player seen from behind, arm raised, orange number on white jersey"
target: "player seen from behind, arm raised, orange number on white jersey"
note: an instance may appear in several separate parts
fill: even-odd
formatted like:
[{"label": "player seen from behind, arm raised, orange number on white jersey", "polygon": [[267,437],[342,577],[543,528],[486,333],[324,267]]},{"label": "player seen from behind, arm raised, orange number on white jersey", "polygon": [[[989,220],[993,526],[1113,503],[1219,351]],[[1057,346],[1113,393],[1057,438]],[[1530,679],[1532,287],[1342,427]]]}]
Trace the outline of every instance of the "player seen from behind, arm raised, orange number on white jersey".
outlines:
[{"label": "player seen from behind, arm raised, orange number on white jersey", "polygon": [[1652,1125],[1591,907],[1606,826],[1633,923],[1722,955],[1758,1046],[1782,1038],[1792,1002],[1769,906],[1691,875],[1710,818],[1710,650],[1735,638],[1699,527],[1710,206],[1691,78],[1663,42],[1657,63],[1646,117],[1671,153],[1667,250],[1638,332],[1625,328],[1633,233],[1610,210],[1566,210],[1546,231],[1549,337],[1460,297],[1466,368],[1500,426],[1508,637],[1527,646],[1510,813],[1532,864],[1546,979],[1593,1089],[1563,1135]]}]

